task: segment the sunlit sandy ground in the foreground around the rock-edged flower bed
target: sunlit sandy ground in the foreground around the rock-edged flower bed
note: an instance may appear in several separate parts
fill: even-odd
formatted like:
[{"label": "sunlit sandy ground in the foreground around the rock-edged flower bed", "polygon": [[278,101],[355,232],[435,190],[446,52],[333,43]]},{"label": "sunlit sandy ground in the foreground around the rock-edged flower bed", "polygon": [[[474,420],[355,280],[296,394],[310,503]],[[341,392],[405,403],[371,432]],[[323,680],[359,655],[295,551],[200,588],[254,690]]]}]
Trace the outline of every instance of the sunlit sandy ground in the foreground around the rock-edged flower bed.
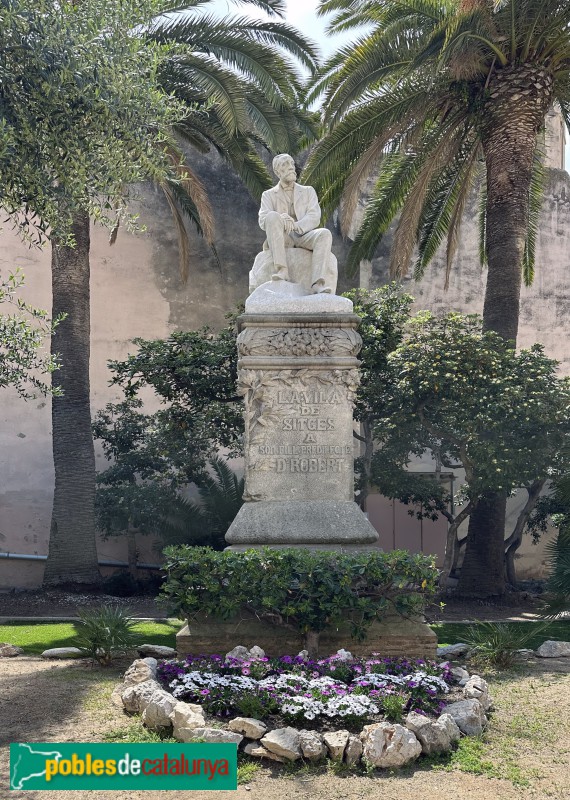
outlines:
[{"label": "sunlit sandy ground in the foreground around the rock-edged flower bed", "polygon": [[[109,702],[129,662],[108,670],[88,662],[40,657],[0,662],[0,800],[106,800],[96,791],[8,789],[10,742],[96,742],[105,733],[138,730],[138,721]],[[172,791],[172,800],[568,800],[570,797],[570,659],[533,660],[518,673],[491,678],[497,710],[479,751],[439,769],[335,775],[324,768],[261,765],[237,792]],[[466,740],[467,741],[467,740]],[[473,740],[474,741],[474,740]],[[498,776],[498,777],[496,777]],[[156,791],[113,792],[110,800],[163,800]]]}]

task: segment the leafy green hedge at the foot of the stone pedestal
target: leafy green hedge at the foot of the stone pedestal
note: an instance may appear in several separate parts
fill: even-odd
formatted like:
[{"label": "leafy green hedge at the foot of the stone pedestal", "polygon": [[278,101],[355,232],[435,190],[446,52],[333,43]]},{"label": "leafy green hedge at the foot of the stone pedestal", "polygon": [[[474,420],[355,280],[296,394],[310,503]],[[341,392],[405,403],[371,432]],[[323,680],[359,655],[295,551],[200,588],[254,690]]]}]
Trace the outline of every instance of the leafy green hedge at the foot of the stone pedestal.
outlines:
[{"label": "leafy green hedge at the foot of the stone pedestal", "polygon": [[348,623],[365,639],[388,613],[414,615],[435,590],[433,557],[404,550],[358,554],[302,548],[236,553],[182,545],[165,551],[168,578],[161,597],[172,613],[265,619],[306,636],[316,652],[319,632]]}]

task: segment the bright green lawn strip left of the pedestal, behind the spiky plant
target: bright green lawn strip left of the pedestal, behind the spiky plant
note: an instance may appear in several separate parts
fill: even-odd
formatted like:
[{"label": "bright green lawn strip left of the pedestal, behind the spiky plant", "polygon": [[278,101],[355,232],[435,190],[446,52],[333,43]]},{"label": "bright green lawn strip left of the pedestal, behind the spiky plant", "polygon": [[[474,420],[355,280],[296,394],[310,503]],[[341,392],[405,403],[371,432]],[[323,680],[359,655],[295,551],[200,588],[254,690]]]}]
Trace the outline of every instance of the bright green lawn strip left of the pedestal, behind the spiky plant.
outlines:
[{"label": "bright green lawn strip left of the pedestal, behind the spiky plant", "polygon": [[[164,622],[138,622],[134,632],[140,644],[152,643],[176,647],[176,634],[182,627],[180,620]],[[26,655],[37,655],[51,647],[73,647],[77,636],[74,622],[14,622],[0,625],[0,642],[21,647]]]}]

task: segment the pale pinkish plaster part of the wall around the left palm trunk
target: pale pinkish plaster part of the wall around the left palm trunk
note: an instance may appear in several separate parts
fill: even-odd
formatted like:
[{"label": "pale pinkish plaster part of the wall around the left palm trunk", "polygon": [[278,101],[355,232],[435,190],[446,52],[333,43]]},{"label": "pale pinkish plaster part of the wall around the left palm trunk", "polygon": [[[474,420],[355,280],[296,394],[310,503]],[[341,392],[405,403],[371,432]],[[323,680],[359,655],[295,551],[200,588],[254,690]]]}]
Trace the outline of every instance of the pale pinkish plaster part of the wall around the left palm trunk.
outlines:
[{"label": "pale pinkish plaster part of the wall around the left palm trunk", "polygon": [[[124,357],[136,336],[167,336],[170,308],[157,289],[147,234],[123,235],[110,248],[101,228],[93,231],[92,244],[92,408],[119,399],[108,386],[107,360]],[[21,292],[41,308],[51,304],[49,248],[28,250],[10,233],[0,233],[0,272],[20,266],[26,276]],[[57,376],[57,373],[56,373]],[[57,380],[57,377],[56,377]],[[97,454],[99,463],[102,455]],[[9,389],[2,390],[0,405],[0,550],[22,554],[47,553],[53,465],[51,456],[50,401],[24,402]],[[143,560],[156,555],[141,542]],[[102,559],[126,560],[123,542],[102,542]],[[41,582],[42,562],[0,559],[0,587],[33,586]]]}]

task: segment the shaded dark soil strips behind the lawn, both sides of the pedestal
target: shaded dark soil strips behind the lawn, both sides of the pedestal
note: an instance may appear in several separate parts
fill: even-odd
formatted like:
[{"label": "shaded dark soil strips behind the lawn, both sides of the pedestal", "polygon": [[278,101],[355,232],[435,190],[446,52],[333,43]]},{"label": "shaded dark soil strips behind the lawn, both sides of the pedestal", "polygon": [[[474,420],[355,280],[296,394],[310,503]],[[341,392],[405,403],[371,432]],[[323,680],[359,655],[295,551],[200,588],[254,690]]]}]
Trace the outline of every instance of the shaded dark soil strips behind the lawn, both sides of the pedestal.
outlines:
[{"label": "shaded dark soil strips behind the lawn, both sides of the pedestal", "polygon": [[[461,620],[531,619],[540,596],[529,592],[510,592],[494,601],[461,600],[446,597],[443,608],[433,604],[427,612],[429,622]],[[167,609],[154,597],[111,597],[103,594],[64,591],[19,591],[0,593],[0,618],[70,617],[78,608],[120,605],[134,617],[164,617]]]}]

